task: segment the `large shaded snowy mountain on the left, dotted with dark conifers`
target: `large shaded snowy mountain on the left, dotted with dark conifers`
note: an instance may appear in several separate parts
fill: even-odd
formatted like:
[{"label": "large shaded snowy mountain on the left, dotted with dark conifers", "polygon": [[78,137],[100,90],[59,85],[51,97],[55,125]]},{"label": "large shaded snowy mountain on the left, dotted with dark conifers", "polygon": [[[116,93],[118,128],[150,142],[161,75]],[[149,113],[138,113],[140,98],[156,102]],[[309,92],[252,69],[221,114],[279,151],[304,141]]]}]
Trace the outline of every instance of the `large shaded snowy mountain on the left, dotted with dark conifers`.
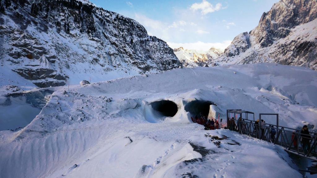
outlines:
[{"label": "large shaded snowy mountain on the left, dotted with dark conifers", "polygon": [[173,50],[147,35],[138,22],[89,1],[0,3],[1,70],[18,73],[34,87],[90,78],[102,81],[181,66]]}]

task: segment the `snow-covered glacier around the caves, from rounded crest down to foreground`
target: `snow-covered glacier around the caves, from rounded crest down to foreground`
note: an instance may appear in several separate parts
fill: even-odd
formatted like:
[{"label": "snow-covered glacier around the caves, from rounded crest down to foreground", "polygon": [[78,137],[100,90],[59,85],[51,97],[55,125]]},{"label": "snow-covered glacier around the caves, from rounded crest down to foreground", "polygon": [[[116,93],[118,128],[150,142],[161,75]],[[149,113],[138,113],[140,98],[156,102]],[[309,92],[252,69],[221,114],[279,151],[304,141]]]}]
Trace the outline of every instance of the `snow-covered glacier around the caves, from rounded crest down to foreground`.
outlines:
[{"label": "snow-covered glacier around the caves, from rounded crest down to foreground", "polygon": [[[316,90],[316,71],[271,63],[173,69],[62,89],[25,128],[0,131],[0,175],[301,177],[278,145],[213,130],[230,137],[217,148],[190,117],[208,101],[223,119],[237,108],[256,118],[278,113],[284,126],[316,125]],[[174,116],[165,116],[165,104]],[[231,139],[241,144],[226,144]]]}]

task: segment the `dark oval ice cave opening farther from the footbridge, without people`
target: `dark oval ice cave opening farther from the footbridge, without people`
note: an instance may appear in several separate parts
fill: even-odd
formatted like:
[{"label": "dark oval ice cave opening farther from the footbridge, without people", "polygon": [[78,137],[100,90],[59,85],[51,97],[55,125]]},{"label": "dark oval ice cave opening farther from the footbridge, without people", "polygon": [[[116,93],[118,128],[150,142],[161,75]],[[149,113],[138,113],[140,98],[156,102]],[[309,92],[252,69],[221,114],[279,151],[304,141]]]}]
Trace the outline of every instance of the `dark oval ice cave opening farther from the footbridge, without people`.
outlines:
[{"label": "dark oval ice cave opening farther from the footbridge, without people", "polygon": [[155,101],[151,103],[153,110],[158,111],[165,117],[173,117],[178,111],[176,103],[169,100]]}]

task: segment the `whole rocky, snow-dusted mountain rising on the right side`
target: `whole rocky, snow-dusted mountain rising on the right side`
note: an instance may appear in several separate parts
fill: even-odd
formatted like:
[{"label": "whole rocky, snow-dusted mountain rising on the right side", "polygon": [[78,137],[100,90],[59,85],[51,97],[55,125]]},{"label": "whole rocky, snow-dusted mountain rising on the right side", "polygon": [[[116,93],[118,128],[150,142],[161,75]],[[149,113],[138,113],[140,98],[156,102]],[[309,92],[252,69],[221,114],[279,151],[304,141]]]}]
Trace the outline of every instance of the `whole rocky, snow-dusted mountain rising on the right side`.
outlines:
[{"label": "whole rocky, snow-dusted mountain rising on the right side", "polygon": [[316,17],[316,0],[281,0],[211,65],[275,62],[317,70]]}]

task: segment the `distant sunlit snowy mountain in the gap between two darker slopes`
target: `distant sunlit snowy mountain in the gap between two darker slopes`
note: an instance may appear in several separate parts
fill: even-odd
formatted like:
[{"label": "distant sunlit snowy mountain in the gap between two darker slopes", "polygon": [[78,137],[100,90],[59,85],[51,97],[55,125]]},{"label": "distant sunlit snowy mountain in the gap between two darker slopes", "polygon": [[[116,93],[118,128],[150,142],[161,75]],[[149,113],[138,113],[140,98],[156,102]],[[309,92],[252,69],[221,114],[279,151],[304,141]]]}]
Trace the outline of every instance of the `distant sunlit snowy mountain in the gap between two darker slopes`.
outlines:
[{"label": "distant sunlit snowy mountain in the gap between two darker slopes", "polygon": [[179,47],[175,48],[173,51],[184,67],[204,66],[216,59],[222,53],[221,50],[216,48],[210,48],[208,51],[197,51]]}]

